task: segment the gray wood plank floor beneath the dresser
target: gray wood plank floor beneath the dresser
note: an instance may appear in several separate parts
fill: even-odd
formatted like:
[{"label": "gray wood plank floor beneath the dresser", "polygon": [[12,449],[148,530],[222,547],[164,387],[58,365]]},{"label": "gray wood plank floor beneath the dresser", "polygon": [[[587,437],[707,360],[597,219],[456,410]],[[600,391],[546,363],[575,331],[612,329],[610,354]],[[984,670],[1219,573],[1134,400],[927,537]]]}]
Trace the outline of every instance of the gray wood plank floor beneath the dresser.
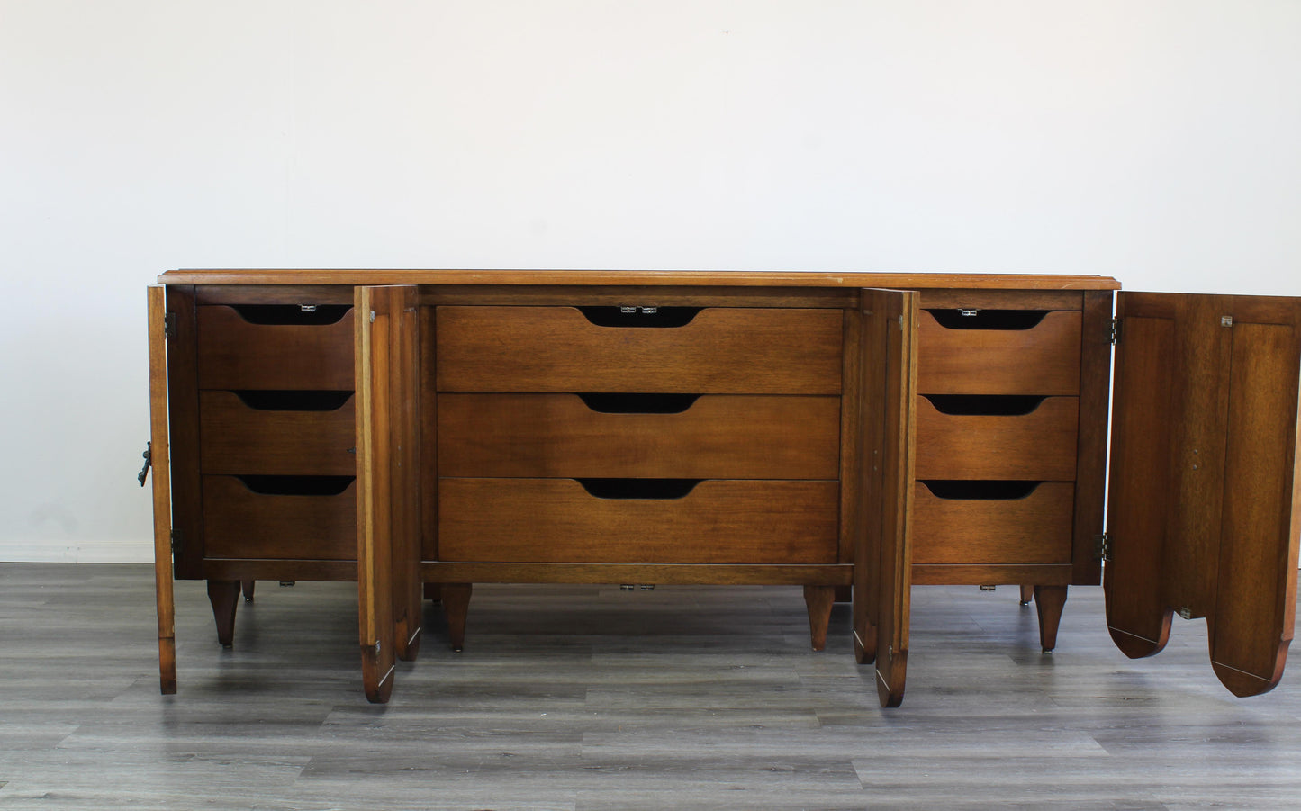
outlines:
[{"label": "gray wood plank floor beneath the dresser", "polygon": [[477,586],[466,651],[431,606],[385,707],[353,585],[258,589],[226,651],[177,584],[161,697],[148,567],[0,564],[0,808],[1301,807],[1298,673],[1236,699],[1177,619],[1127,660],[1099,589],[1051,656],[1016,589],[915,589],[892,711],[848,607],[808,650],[799,589]]}]

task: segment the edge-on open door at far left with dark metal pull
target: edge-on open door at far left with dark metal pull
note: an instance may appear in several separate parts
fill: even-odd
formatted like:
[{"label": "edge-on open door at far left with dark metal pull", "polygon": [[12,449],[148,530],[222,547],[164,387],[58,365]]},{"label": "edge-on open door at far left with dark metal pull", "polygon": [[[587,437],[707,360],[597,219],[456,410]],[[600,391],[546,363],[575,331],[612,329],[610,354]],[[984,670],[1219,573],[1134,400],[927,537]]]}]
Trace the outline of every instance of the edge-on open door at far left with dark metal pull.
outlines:
[{"label": "edge-on open door at far left with dark metal pull", "polygon": [[[154,593],[159,615],[159,686],[176,693],[176,598],[172,591],[172,465],[168,454],[167,299],[148,289],[150,467],[154,469]],[[141,483],[144,483],[143,473]]]}]

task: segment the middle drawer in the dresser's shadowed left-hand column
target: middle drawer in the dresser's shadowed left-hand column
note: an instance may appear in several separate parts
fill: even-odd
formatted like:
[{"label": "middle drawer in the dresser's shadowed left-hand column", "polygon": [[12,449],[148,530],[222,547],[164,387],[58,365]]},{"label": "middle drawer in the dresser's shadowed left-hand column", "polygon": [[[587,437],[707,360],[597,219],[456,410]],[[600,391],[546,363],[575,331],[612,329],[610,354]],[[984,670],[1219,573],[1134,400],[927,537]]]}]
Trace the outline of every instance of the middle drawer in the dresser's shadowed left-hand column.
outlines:
[{"label": "middle drawer in the dresser's shadowed left-hand column", "polygon": [[204,473],[354,476],[353,394],[199,393]]}]

